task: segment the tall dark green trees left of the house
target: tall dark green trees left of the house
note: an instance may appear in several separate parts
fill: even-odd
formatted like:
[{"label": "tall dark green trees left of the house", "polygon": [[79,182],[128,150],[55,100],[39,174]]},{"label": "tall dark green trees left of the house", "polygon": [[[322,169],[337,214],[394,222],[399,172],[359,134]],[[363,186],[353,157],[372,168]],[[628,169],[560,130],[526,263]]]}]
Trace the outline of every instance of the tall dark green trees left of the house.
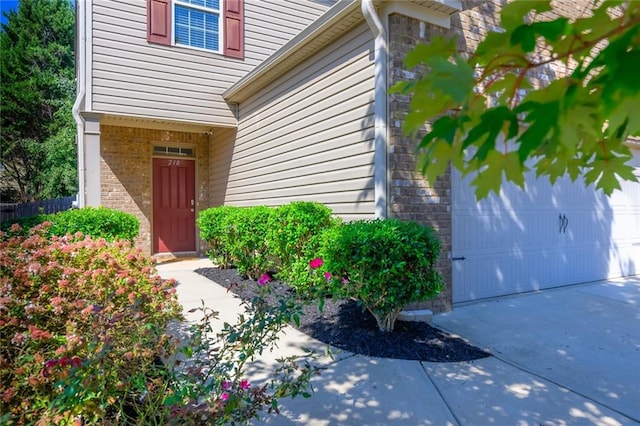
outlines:
[{"label": "tall dark green trees left of the house", "polygon": [[18,202],[75,192],[74,27],[69,0],[23,0],[2,25],[0,161]]}]

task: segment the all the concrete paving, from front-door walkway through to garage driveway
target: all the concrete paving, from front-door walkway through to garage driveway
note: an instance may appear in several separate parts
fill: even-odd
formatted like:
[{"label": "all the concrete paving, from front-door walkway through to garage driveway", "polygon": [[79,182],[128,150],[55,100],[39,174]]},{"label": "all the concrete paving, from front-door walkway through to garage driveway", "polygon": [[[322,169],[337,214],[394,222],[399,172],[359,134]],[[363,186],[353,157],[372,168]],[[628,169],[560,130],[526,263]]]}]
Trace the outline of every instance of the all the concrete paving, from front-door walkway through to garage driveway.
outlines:
[{"label": "all the concrete paving, from front-door walkway through to garage driveway", "polygon": [[[204,259],[158,266],[185,313],[201,300],[234,321],[238,300],[193,272]],[[189,314],[190,320],[197,319]],[[494,356],[430,363],[342,352],[323,358],[310,399],[280,401],[269,425],[640,425],[640,277],[459,306],[433,324]],[[278,355],[326,345],[291,328]]]}]

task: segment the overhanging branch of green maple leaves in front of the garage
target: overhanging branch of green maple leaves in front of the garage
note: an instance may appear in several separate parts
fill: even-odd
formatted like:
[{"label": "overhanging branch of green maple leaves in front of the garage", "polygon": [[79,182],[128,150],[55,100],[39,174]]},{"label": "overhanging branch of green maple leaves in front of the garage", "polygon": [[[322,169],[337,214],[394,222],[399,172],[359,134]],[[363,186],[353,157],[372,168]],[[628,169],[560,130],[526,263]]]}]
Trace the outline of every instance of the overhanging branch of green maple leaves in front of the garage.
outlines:
[{"label": "overhanging branch of green maple leaves in front of the garage", "polygon": [[[429,180],[451,163],[477,174],[478,198],[504,179],[523,187],[528,166],[552,183],[582,174],[606,194],[619,179],[637,180],[625,140],[640,136],[640,2],[598,2],[575,21],[530,19],[550,10],[549,0],[506,4],[504,31],[488,33],[468,59],[443,38],[407,55],[408,68],[428,72],[393,91],[412,95],[407,132],[431,122],[419,145]],[[555,64],[572,71],[534,89],[531,76]]]}]

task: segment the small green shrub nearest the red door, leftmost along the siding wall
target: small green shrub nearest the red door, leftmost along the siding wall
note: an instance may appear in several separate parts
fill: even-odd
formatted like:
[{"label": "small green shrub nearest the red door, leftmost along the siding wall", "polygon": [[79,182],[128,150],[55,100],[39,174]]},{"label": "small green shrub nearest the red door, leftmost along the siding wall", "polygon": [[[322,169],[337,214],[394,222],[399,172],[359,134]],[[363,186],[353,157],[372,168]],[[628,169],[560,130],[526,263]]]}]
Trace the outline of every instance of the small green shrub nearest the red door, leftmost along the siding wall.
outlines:
[{"label": "small green shrub nearest the red door, leftmost along the siding wall", "polygon": [[230,247],[235,239],[235,216],[240,207],[219,206],[200,212],[196,221],[200,237],[209,244],[209,257],[220,268],[233,265]]}]

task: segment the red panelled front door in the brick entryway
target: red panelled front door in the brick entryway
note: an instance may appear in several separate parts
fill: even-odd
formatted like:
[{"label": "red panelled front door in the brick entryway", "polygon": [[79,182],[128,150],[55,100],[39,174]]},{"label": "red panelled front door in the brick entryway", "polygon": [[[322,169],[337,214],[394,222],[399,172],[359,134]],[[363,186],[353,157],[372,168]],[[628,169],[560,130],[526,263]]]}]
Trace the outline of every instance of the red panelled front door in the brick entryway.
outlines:
[{"label": "red panelled front door in the brick entryway", "polygon": [[195,161],[153,159],[153,252],[196,250]]}]

